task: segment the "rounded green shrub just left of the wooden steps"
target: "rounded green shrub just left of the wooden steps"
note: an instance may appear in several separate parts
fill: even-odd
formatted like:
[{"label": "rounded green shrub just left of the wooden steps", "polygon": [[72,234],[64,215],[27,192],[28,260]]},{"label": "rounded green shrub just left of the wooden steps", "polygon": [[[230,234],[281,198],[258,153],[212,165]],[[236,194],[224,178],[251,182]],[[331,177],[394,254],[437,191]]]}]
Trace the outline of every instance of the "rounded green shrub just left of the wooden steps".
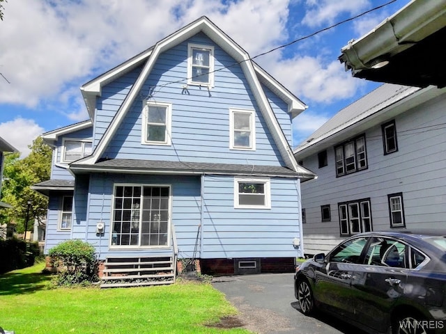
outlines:
[{"label": "rounded green shrub just left of the wooden steps", "polygon": [[54,246],[48,255],[57,270],[57,285],[88,285],[98,280],[95,248],[82,240],[67,240]]}]

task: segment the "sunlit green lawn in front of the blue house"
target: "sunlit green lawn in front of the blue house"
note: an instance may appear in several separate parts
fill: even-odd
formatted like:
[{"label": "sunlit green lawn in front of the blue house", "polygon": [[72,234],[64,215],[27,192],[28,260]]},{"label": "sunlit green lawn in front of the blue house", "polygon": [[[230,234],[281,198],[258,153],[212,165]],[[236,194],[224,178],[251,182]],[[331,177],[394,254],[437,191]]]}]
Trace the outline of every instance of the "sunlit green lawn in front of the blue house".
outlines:
[{"label": "sunlit green lawn in front of the blue house", "polygon": [[0,276],[0,326],[15,333],[250,333],[220,329],[237,310],[210,284],[50,288],[45,264]]}]

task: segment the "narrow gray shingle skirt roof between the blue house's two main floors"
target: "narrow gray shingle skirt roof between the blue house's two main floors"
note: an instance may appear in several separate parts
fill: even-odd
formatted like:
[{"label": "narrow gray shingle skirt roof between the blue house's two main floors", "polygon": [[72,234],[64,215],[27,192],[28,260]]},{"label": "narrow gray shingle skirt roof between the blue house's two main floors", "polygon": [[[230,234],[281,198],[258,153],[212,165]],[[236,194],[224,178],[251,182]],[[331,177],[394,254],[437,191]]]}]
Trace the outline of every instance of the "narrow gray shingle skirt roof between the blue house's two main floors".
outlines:
[{"label": "narrow gray shingle skirt roof between the blue house's two main floors", "polygon": [[250,164],[211,164],[204,162],[155,161],[134,159],[109,159],[94,165],[70,166],[74,172],[82,170],[106,170],[116,173],[162,173],[162,174],[201,174],[215,173],[228,175],[272,175],[284,177],[313,177],[314,174],[296,173],[282,166],[261,166]]}]

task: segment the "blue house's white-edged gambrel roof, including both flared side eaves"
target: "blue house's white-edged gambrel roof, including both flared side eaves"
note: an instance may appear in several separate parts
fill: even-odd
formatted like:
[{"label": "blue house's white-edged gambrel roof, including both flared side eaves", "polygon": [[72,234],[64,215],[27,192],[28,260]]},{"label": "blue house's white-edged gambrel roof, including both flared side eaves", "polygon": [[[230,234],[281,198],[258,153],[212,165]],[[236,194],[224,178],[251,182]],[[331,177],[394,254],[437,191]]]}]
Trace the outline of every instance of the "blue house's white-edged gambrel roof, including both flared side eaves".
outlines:
[{"label": "blue house's white-edged gambrel roof, including both flared side eaves", "polygon": [[297,116],[299,113],[304,111],[307,106],[297,97],[295,97],[295,95],[290,93],[289,90],[284,88],[284,86],[279,84],[279,82],[272,78],[267,72],[262,70],[259,65],[254,63],[244,49],[242,49],[236,42],[231,40],[231,38],[229,38],[228,35],[215,26],[213,22],[210,22],[207,17],[197,19],[191,24],[185,26],[183,29],[180,29],[167,36],[167,38],[160,40],[153,47],[143,51],[141,54],[130,58],[125,63],[118,65],[109,72],[100,75],[100,77],[97,77],[82,86],[82,95],[84,96],[89,115],[91,119],[93,119],[95,100],[101,95],[102,87],[114,79],[121,77],[123,74],[129,72],[135,67],[141,65],[143,66],[139,77],[130,89],[128,95],[125,97],[125,100],[123,100],[123,103],[119,107],[116,116],[113,118],[99,143],[95,146],[93,154],[90,157],[75,161],[71,164],[72,168],[75,168],[75,166],[78,164],[94,165],[96,162],[98,162],[98,160],[102,157],[102,154],[107,149],[107,145],[109,145],[110,141],[112,141],[112,138],[116,134],[119,125],[125,118],[125,115],[128,113],[135,98],[139,94],[141,87],[148,78],[148,75],[151,73],[153,65],[157,61],[157,57],[163,51],[180,44],[199,32],[205,33],[211,40],[222,47],[227,54],[233,57],[235,61],[240,64],[240,67],[245,74],[245,78],[247,79],[247,83],[249,84],[249,88],[252,90],[254,99],[256,100],[259,109],[266,120],[266,125],[268,126],[268,129],[270,129],[282,159],[285,161],[286,167],[294,172],[302,174],[308,173],[305,168],[300,167],[297,164],[297,161],[295,161],[289,143],[286,141],[286,137],[279,126],[279,122],[272,111],[261,85],[265,85],[273,93],[282,98],[286,104],[288,104],[288,111],[291,114],[291,117]]}]

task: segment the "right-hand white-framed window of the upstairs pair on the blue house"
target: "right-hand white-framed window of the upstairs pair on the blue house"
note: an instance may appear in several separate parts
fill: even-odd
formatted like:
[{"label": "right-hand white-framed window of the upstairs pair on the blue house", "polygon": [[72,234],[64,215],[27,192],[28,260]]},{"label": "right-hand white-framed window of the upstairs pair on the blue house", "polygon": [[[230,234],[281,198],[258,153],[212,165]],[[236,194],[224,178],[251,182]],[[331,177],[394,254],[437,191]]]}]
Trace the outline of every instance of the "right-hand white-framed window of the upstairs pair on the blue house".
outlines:
[{"label": "right-hand white-framed window of the upstairs pair on the blue house", "polygon": [[254,110],[229,109],[229,148],[256,150],[255,124]]}]

